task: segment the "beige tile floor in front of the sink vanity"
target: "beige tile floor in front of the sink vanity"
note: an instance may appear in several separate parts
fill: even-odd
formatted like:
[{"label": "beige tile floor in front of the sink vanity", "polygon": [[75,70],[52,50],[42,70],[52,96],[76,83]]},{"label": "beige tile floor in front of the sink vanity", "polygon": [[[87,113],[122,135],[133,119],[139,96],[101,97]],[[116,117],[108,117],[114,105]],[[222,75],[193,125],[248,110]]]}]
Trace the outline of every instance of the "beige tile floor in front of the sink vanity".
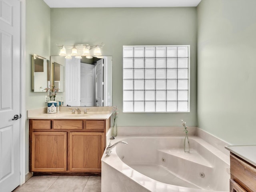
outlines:
[{"label": "beige tile floor in front of the sink vanity", "polygon": [[101,177],[34,176],[13,192],[101,192]]}]

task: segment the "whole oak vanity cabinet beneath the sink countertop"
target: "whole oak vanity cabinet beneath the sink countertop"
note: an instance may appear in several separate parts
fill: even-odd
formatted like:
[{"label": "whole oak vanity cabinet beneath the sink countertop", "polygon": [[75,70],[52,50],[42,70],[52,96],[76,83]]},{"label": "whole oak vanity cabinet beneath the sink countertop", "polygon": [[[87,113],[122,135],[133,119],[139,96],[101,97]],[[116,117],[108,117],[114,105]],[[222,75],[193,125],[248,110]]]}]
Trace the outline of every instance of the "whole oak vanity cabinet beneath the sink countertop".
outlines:
[{"label": "whole oak vanity cabinet beneath the sink countertop", "polygon": [[34,175],[97,175],[106,147],[107,120],[30,119],[30,171]]}]

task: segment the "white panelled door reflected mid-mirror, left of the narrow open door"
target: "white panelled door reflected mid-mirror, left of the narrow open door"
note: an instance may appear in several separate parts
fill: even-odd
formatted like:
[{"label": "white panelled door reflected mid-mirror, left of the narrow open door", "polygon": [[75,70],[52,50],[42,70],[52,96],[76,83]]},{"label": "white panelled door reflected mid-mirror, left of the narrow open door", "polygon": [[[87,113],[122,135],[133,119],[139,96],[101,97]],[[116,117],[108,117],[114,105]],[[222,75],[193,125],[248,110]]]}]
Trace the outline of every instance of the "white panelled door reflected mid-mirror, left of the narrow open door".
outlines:
[{"label": "white panelled door reflected mid-mirror, left of the narrow open door", "polygon": [[95,65],[81,63],[80,106],[94,106],[95,103]]}]

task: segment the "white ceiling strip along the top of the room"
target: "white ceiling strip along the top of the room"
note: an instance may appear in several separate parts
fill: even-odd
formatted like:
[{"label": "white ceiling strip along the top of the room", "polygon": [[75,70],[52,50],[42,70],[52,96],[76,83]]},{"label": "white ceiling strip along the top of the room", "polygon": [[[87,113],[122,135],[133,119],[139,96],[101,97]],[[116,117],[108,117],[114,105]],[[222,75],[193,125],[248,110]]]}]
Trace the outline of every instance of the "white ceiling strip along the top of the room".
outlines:
[{"label": "white ceiling strip along the top of the room", "polygon": [[201,0],[44,0],[50,8],[196,7]]}]

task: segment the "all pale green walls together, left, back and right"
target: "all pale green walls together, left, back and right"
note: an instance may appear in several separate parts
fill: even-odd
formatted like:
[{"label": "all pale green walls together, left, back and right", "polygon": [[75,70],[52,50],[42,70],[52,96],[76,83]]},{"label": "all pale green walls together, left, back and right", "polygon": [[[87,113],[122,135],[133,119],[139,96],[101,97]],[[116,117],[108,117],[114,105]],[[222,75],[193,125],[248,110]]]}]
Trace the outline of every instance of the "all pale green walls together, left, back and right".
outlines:
[{"label": "all pale green walls together, left, back and right", "polygon": [[[198,126],[230,144],[254,144],[256,1],[202,0],[197,8],[52,8],[26,0],[26,110],[44,107],[31,90],[30,54],[56,44],[104,42],[113,56],[118,126]],[[190,45],[189,113],[122,113],[123,45]],[[198,59],[198,61],[197,61]],[[28,172],[28,123],[26,123]]]}]

